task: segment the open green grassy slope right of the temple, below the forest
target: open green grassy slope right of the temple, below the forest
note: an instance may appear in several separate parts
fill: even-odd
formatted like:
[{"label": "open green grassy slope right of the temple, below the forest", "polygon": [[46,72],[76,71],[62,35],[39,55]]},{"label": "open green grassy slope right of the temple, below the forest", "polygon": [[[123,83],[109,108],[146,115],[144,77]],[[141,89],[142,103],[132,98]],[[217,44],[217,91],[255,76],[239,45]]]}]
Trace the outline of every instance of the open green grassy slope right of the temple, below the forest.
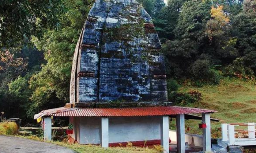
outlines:
[{"label": "open green grassy slope right of the temple, below the forest", "polygon": [[[183,86],[180,91],[198,90],[203,95],[203,100],[193,104],[192,107],[217,110],[212,118],[223,120],[223,123],[256,122],[256,86],[238,79],[223,79],[219,85],[203,87]],[[186,121],[186,126],[191,127],[189,133],[202,133],[198,129],[199,120]],[[173,123],[171,123],[173,124]],[[212,122],[212,129],[221,127],[221,122]],[[215,133],[213,130],[212,133]],[[216,132],[214,137],[220,137]]]}]

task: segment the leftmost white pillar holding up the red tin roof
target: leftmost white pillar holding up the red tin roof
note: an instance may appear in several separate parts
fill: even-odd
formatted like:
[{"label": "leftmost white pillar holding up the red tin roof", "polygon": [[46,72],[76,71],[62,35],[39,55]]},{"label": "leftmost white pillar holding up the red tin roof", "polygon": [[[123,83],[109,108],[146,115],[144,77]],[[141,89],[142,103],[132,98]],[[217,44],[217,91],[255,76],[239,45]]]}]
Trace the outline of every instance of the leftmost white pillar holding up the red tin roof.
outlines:
[{"label": "leftmost white pillar holding up the red tin roof", "polygon": [[43,118],[44,141],[52,141],[52,118]]}]

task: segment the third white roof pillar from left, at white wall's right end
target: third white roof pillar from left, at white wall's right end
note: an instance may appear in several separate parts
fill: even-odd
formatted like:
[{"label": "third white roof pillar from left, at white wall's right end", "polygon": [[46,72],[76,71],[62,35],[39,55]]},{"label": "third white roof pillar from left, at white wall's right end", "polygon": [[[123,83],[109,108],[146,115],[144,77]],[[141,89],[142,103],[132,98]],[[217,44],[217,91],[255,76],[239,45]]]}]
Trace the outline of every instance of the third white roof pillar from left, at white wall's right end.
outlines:
[{"label": "third white roof pillar from left, at white wall's right end", "polygon": [[169,153],[169,116],[161,118],[161,145],[163,153]]}]

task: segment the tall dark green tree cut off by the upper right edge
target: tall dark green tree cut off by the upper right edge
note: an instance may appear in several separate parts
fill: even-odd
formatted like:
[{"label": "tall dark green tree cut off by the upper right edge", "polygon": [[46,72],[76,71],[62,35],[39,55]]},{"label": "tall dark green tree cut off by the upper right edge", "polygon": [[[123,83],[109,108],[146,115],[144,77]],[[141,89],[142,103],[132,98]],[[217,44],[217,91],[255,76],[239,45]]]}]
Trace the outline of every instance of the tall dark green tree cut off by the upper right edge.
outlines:
[{"label": "tall dark green tree cut off by the upper right edge", "polygon": [[237,39],[235,47],[238,50],[245,68],[256,72],[256,2],[245,0],[243,10],[234,16],[232,29]]}]

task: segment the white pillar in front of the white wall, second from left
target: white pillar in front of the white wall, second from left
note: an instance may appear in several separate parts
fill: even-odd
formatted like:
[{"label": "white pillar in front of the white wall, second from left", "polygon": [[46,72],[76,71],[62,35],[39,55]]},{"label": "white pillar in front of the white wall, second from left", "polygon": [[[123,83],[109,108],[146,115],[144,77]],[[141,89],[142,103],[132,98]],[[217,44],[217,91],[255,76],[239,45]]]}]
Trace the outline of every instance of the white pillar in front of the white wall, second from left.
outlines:
[{"label": "white pillar in front of the white wall, second from left", "polygon": [[101,147],[109,147],[109,118],[101,117]]}]

